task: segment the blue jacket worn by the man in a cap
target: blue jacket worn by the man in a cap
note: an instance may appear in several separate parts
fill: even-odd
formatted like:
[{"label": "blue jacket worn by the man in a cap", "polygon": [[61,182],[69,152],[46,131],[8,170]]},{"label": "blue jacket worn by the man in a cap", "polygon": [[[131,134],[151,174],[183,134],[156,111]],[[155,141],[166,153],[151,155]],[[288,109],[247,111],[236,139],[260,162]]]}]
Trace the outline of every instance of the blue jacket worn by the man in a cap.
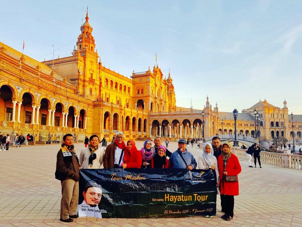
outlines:
[{"label": "blue jacket worn by the man in a cap", "polygon": [[178,149],[172,153],[171,157],[169,158],[170,168],[187,169],[187,166],[186,166],[185,162],[182,160],[181,155],[184,158],[184,160],[186,161],[188,166],[192,166],[193,169],[196,169],[197,162],[196,162],[194,156],[190,152],[188,152],[187,149],[185,150],[185,152],[181,152]]}]

